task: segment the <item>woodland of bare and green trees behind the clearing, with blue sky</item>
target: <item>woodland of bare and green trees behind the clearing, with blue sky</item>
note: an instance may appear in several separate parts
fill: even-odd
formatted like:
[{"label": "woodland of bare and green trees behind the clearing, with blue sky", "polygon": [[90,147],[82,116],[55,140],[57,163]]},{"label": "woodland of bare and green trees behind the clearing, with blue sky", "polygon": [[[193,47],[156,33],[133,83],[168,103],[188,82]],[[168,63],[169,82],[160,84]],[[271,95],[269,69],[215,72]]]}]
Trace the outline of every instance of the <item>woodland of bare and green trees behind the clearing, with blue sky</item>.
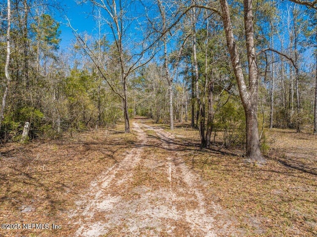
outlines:
[{"label": "woodland of bare and green trees behind the clearing, with blue sky", "polygon": [[20,141],[27,121],[27,139],[120,120],[129,133],[141,115],[171,130],[190,120],[202,147],[220,132],[264,163],[265,129],[317,134],[314,1],[78,4],[97,31],[64,15],[75,38],[60,50],[58,2],[2,2],[1,141]]}]

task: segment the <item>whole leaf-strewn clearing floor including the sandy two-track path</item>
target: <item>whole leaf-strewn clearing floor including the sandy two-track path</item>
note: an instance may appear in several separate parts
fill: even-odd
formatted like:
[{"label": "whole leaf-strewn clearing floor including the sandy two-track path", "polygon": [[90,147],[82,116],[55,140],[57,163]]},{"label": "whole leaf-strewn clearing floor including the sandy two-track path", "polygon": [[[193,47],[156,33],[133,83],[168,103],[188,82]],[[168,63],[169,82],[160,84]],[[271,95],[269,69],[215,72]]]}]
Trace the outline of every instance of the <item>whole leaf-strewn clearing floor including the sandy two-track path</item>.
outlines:
[{"label": "whole leaf-strewn clearing floor including the sandy two-track path", "polygon": [[[60,140],[7,143],[0,157],[4,237],[317,235],[317,142],[268,133],[268,162],[241,149],[199,148],[197,130],[139,118]],[[52,229],[52,224],[61,229]]]}]

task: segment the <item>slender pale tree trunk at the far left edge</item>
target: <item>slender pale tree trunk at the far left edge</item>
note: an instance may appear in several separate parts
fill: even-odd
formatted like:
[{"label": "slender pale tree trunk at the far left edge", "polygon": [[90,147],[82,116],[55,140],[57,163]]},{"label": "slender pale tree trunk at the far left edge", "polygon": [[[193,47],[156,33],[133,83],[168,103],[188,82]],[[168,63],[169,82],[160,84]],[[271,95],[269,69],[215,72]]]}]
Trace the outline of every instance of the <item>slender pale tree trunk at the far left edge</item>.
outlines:
[{"label": "slender pale tree trunk at the far left edge", "polygon": [[4,66],[4,74],[6,78],[5,89],[2,97],[2,104],[0,109],[0,129],[2,125],[2,121],[4,118],[4,109],[6,105],[6,97],[9,94],[9,84],[10,84],[10,74],[9,74],[9,64],[10,64],[10,31],[11,31],[11,5],[10,0],[7,0],[7,29],[6,29],[6,59]]}]

